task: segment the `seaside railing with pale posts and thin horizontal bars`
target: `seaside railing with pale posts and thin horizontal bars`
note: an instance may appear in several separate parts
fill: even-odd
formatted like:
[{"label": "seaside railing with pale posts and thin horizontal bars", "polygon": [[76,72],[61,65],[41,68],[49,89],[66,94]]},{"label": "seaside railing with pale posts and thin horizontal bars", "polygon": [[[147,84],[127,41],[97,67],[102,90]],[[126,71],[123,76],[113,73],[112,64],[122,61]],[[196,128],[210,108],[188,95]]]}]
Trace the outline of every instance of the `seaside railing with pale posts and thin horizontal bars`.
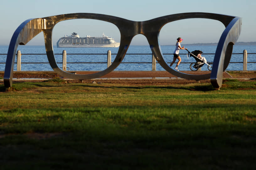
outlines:
[{"label": "seaside railing with pale posts and thin horizontal bars", "polygon": [[[204,53],[204,55],[214,55],[215,53]],[[247,56],[248,54],[256,54],[256,53],[247,53],[247,50],[243,50],[243,53],[232,53],[233,54],[243,54],[243,62],[230,62],[230,63],[243,63],[243,70],[247,70],[247,63],[256,63],[256,62],[247,62]],[[0,55],[7,55],[7,54],[0,54]],[[37,54],[37,53],[28,53],[28,54],[23,54],[23,55],[46,55],[46,54]],[[67,62],[67,52],[66,50],[63,50],[62,54],[61,53],[56,53],[55,55],[62,55],[62,62],[57,62],[57,63],[62,63],[62,69],[64,71],[67,71],[67,64],[74,64],[74,63],[79,63],[79,64],[97,64],[97,63],[107,63],[107,67],[111,65],[111,51],[108,50],[108,53],[69,53],[68,55],[107,55],[107,62]],[[116,55],[116,53],[113,53],[113,55]],[[122,63],[141,63],[141,64],[149,64],[152,63],[152,71],[156,71],[156,59],[153,56],[152,53],[129,53],[125,55],[152,55],[152,62],[122,62]],[[173,55],[172,53],[164,53],[163,55]],[[180,54],[180,55],[186,55],[186,54]],[[17,51],[17,71],[21,71],[21,64],[47,64],[48,62],[21,62],[21,52],[20,50]],[[181,63],[191,63],[191,62],[181,62]],[[5,63],[0,63],[0,64],[5,64]],[[199,69],[200,71],[200,69]]]}]

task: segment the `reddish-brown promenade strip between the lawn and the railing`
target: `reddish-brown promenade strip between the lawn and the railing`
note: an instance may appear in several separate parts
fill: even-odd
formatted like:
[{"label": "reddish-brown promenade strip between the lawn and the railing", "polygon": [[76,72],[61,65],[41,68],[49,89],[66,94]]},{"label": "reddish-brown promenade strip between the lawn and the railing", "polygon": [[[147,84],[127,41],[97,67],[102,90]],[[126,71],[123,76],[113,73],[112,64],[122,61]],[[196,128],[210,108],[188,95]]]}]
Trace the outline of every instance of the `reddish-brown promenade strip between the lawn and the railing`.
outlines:
[{"label": "reddish-brown promenade strip between the lawn and the railing", "polygon": [[[71,72],[71,71],[70,71]],[[209,71],[182,71],[188,74],[206,74]],[[76,74],[91,74],[92,71],[76,71]],[[4,72],[0,71],[3,77]],[[53,71],[14,71],[13,83],[15,82],[42,82],[51,78],[62,78]],[[256,71],[228,71],[223,73],[223,79],[236,78],[241,81],[255,81]],[[65,79],[65,78],[63,78]],[[80,80],[66,79],[69,83],[81,83]],[[101,78],[83,80],[83,83],[117,83],[124,85],[170,85],[170,84],[186,84],[198,83],[195,80],[186,80],[177,78],[167,71],[113,71]],[[201,83],[211,83],[210,79],[200,80]],[[0,79],[3,84],[3,79]]]}]

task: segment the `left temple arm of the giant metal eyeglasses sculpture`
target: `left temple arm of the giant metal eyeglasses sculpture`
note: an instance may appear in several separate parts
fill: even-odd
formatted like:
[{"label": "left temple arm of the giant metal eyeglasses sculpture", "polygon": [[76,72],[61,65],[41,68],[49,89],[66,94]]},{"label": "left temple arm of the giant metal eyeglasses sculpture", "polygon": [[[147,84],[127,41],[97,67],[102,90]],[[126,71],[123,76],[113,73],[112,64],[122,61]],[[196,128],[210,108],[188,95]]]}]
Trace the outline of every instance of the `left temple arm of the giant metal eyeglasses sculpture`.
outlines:
[{"label": "left temple arm of the giant metal eyeglasses sculpture", "polygon": [[42,31],[41,18],[35,18],[35,19],[28,19],[23,23],[21,23],[20,26],[13,33],[13,36],[11,38],[9,48],[8,48],[5,70],[4,70],[3,81],[4,81],[5,88],[12,87],[14,60],[15,60],[16,50],[18,46],[25,45],[37,34],[39,34],[41,31]]}]

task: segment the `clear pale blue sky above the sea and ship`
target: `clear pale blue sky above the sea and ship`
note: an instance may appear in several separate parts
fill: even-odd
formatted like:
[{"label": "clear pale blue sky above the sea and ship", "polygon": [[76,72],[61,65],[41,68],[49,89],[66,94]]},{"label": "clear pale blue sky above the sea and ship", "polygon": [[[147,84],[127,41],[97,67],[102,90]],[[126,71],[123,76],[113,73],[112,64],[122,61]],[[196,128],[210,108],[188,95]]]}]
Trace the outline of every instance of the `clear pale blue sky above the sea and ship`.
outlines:
[{"label": "clear pale blue sky above the sea and ship", "polygon": [[[9,45],[13,32],[29,18],[49,17],[67,13],[100,13],[122,17],[132,21],[146,21],[156,17],[183,12],[210,12],[242,17],[242,31],[237,42],[256,42],[255,0],[3,0],[0,10],[0,45]],[[77,32],[86,35],[113,37],[120,42],[118,29],[108,23],[91,22],[86,19],[56,24],[53,45],[60,37]],[[166,24],[160,31],[163,45],[175,45],[182,37],[184,44],[218,42],[224,25],[215,20],[185,19]],[[43,34],[26,45],[44,45]],[[131,45],[148,45],[143,35],[136,35]]]}]

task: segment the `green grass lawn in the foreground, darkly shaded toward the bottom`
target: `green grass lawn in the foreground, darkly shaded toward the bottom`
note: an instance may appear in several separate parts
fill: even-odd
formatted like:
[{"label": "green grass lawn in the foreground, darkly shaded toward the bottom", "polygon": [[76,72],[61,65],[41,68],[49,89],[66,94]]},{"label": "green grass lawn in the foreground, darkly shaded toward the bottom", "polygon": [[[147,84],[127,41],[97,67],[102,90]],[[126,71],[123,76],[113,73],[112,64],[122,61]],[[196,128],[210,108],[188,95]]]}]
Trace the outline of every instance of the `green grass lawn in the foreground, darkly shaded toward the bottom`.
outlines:
[{"label": "green grass lawn in the foreground, darkly shaded toward the bottom", "polygon": [[0,169],[256,168],[256,81],[0,89]]}]

